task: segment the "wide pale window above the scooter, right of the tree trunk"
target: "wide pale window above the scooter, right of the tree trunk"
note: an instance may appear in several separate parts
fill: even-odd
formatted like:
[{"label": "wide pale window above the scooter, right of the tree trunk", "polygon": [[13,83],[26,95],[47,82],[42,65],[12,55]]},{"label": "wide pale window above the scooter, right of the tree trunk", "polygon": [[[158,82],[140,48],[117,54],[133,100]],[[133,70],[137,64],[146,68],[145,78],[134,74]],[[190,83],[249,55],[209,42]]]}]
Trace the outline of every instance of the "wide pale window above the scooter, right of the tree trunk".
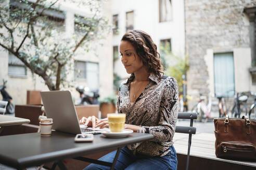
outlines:
[{"label": "wide pale window above the scooter, right of the tree trunk", "polygon": [[91,90],[99,88],[99,64],[93,62],[75,61],[75,79],[86,79]]}]

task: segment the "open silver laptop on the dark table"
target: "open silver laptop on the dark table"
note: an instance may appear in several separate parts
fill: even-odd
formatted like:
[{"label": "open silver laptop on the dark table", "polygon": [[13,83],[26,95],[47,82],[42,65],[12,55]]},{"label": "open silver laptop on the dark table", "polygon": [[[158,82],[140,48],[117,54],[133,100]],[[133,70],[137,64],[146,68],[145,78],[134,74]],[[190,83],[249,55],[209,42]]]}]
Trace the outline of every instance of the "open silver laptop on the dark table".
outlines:
[{"label": "open silver laptop on the dark table", "polygon": [[100,133],[100,129],[79,125],[70,91],[45,91],[40,93],[46,116],[53,119],[53,130],[71,134]]}]

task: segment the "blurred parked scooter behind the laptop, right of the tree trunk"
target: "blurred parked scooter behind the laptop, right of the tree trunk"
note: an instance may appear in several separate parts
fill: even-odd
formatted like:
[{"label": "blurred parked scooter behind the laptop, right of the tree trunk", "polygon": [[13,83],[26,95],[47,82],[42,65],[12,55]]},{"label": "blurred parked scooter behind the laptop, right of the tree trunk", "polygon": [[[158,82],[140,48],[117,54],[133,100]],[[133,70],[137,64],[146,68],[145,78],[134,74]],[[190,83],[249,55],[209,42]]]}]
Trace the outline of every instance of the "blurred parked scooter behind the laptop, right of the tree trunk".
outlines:
[{"label": "blurred parked scooter behind the laptop, right of the tree trunk", "polygon": [[79,92],[81,101],[79,104],[83,105],[98,105],[98,91],[90,91],[88,87],[78,86],[75,88]]}]

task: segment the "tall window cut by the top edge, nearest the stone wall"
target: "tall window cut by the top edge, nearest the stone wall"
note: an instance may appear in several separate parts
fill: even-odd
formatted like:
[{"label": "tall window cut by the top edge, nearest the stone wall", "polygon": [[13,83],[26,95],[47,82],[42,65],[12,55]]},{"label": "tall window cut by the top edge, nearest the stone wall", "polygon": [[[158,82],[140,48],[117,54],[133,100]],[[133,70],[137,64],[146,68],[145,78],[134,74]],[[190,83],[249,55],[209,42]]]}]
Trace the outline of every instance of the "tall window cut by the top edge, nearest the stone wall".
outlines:
[{"label": "tall window cut by the top edge, nearest the stone wall", "polygon": [[159,22],[172,20],[172,0],[159,0]]}]

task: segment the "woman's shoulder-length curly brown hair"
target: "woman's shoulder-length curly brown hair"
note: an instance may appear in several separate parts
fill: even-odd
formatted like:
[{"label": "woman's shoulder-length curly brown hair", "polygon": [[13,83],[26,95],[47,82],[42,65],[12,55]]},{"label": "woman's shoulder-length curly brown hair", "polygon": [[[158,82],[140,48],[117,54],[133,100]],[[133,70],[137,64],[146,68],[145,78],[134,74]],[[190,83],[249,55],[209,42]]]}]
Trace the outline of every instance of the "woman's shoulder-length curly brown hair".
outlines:
[{"label": "woman's shoulder-length curly brown hair", "polygon": [[157,52],[157,45],[153,43],[150,35],[141,30],[133,30],[125,33],[122,40],[129,41],[143,65],[148,68],[150,73],[155,73],[161,79],[163,66],[160,61],[160,54]]}]

